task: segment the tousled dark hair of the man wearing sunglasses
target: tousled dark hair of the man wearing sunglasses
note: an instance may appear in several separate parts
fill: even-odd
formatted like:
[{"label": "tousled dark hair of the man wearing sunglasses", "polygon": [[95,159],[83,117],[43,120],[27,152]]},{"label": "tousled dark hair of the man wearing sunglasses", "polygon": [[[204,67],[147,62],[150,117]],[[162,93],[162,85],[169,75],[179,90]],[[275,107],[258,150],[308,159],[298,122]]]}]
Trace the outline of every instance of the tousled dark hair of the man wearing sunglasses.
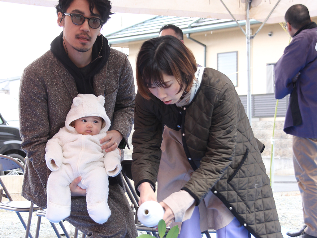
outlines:
[{"label": "tousled dark hair of the man wearing sunglasses", "polygon": [[[61,21],[64,18],[64,13],[67,11],[70,4],[72,4],[74,0],[59,0],[58,4],[56,5],[56,13],[58,14],[61,12],[63,16],[61,17]],[[87,0],[89,3],[89,10],[91,13],[93,13],[94,7],[98,10],[102,25],[101,27],[108,21],[110,18],[110,15],[113,14],[113,12],[110,12],[112,4],[109,0]]]}]

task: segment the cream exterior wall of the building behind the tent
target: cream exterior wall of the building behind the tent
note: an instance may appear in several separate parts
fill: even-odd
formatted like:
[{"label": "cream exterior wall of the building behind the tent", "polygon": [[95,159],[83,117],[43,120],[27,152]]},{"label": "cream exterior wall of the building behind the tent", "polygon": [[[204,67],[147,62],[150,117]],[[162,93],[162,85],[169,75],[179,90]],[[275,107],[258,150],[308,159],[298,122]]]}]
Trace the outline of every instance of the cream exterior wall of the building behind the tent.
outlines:
[{"label": "cream exterior wall of the building behind the tent", "polygon": [[[312,18],[317,22],[317,17]],[[254,34],[260,24],[251,25]],[[243,27],[244,28],[244,27]],[[272,36],[268,32],[272,31]],[[217,69],[217,53],[238,51],[238,86],[239,95],[247,94],[246,71],[246,37],[238,28],[206,31],[191,34],[191,38],[207,46],[206,66]],[[265,94],[266,90],[266,64],[276,63],[288,45],[289,36],[280,24],[265,24],[259,33],[251,40],[251,94]],[[130,49],[129,61],[132,65],[135,78],[136,55],[142,41],[118,44],[113,46],[128,47]],[[184,44],[194,53],[196,62],[204,65],[204,47],[187,39],[184,35]]]}]

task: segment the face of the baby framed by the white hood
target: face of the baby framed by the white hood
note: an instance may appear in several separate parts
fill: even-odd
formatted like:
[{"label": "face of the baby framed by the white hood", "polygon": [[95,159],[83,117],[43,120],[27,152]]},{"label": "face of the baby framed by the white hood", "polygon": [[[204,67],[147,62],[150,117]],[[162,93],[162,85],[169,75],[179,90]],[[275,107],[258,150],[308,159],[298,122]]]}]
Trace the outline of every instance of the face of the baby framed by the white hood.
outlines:
[{"label": "face of the baby framed by the white hood", "polygon": [[74,128],[82,135],[97,135],[102,126],[102,119],[99,116],[85,116],[75,120]]}]

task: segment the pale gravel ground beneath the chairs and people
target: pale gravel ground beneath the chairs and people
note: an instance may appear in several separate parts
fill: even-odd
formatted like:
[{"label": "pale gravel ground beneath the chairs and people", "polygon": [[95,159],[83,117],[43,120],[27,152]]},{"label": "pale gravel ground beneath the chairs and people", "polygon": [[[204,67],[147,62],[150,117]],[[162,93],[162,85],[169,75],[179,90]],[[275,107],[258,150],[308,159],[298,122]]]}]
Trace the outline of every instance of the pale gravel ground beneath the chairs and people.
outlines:
[{"label": "pale gravel ground beneath the chairs and people", "polygon": [[[276,192],[274,193],[274,199],[276,203],[277,213],[281,226],[289,229],[300,229],[303,225],[303,214],[301,207],[301,196],[298,192]],[[23,219],[27,221],[28,214],[21,213]],[[0,210],[0,237],[1,238],[24,238],[25,230],[15,214],[6,210]],[[31,223],[31,234],[35,236],[37,224],[37,216],[33,213]],[[58,224],[57,224],[58,225]],[[59,226],[58,226],[59,227]],[[79,232],[78,237],[82,235]],[[74,236],[74,229],[72,230],[71,237]],[[51,227],[49,221],[42,217],[40,238],[55,238],[55,232]],[[65,237],[65,236],[62,236]]]}]

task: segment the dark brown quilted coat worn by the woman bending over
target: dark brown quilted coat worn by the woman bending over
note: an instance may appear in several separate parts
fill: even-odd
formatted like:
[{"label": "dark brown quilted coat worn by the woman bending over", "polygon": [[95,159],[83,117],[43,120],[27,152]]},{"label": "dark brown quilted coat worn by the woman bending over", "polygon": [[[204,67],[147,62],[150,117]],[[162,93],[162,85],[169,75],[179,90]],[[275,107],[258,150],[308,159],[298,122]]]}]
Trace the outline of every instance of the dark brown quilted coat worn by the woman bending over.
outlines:
[{"label": "dark brown quilted coat worn by the woman bending over", "polygon": [[[132,175],[155,188],[162,125],[181,131],[195,172],[182,188],[198,205],[211,189],[257,238],[282,237],[269,178],[243,105],[230,79],[206,68],[191,104],[179,109],[156,97],[135,102]],[[176,166],[177,168],[177,166]]]}]

